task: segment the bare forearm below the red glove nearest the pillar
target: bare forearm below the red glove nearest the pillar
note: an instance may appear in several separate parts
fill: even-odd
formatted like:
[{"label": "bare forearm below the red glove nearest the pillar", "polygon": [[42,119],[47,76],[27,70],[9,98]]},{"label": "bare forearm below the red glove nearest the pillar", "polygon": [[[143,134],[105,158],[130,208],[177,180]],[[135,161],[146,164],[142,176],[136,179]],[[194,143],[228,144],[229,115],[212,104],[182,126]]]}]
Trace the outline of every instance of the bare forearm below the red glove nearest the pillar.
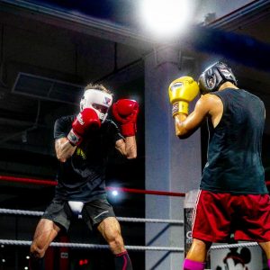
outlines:
[{"label": "bare forearm below the red glove nearest the pillar", "polygon": [[137,157],[137,142],[135,136],[119,139],[115,143],[115,148],[129,159]]}]

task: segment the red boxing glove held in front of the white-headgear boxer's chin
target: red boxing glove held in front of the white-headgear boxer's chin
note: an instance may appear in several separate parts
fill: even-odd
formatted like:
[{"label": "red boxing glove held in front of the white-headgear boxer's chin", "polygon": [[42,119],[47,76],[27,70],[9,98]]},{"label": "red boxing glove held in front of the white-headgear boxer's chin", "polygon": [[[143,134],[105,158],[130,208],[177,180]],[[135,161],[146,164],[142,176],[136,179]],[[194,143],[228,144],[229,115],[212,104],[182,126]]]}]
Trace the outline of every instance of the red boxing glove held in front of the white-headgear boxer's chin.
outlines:
[{"label": "red boxing glove held in front of the white-headgear boxer's chin", "polygon": [[67,135],[67,139],[73,145],[79,145],[90,126],[100,127],[101,122],[96,112],[91,108],[85,108],[76,116],[72,122],[72,129]]}]

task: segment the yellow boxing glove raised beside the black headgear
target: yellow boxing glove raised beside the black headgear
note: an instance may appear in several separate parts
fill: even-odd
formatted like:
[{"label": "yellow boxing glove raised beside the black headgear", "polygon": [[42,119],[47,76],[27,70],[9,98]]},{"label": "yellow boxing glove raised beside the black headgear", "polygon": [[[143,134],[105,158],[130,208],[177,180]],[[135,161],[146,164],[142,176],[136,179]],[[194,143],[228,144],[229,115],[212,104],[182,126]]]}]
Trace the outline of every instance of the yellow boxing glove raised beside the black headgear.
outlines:
[{"label": "yellow boxing glove raised beside the black headgear", "polygon": [[173,104],[173,117],[178,113],[188,115],[188,105],[199,93],[199,85],[191,76],[181,76],[168,87],[170,103]]}]

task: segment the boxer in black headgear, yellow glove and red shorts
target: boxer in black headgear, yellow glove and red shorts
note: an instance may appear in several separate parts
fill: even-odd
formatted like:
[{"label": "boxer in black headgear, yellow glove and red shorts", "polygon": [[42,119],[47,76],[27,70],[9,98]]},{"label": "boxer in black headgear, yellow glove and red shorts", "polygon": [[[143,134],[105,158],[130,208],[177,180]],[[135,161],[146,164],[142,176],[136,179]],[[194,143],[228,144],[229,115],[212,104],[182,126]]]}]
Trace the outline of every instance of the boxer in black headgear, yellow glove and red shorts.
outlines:
[{"label": "boxer in black headgear, yellow glove and red shorts", "polygon": [[[270,203],[261,159],[265,104],[238,88],[231,68],[219,61],[199,76],[202,95],[188,114],[188,104],[198,91],[188,78],[169,86],[175,133],[180,139],[188,138],[207,121],[209,138],[193,215],[192,246],[182,269],[205,269],[211,244],[226,242],[231,234],[236,240],[256,241],[270,269]],[[233,226],[240,223],[245,226]]]}]

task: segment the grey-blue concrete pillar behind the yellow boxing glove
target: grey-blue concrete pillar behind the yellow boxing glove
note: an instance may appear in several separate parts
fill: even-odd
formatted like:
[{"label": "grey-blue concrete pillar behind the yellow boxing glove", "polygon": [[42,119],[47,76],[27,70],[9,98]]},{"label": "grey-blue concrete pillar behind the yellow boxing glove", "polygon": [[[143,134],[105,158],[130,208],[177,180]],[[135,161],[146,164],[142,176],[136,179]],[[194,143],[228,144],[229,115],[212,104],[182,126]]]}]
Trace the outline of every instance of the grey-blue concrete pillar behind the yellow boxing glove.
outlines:
[{"label": "grey-blue concrete pillar behind the yellow boxing glove", "polygon": [[[175,136],[167,87],[179,76],[179,50],[162,48],[145,59],[146,189],[188,192],[202,175],[200,130],[188,139]],[[185,73],[189,72],[189,73]],[[193,104],[191,105],[193,109]],[[146,218],[184,219],[184,198],[147,195]],[[146,246],[184,247],[183,226],[146,224]],[[181,269],[184,253],[147,251],[146,269]]]}]

